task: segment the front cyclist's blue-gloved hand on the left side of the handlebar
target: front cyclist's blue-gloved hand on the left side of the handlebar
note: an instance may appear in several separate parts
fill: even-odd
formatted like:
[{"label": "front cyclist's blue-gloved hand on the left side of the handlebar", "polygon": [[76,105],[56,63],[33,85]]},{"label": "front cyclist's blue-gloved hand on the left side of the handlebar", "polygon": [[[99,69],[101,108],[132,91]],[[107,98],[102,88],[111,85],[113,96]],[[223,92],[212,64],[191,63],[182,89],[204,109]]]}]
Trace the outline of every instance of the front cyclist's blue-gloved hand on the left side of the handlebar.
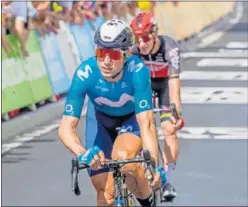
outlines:
[{"label": "front cyclist's blue-gloved hand on the left side of the handlebar", "polygon": [[86,153],[78,156],[79,163],[89,165],[92,169],[99,169],[101,165],[105,164],[106,159],[103,151],[98,147],[94,146],[86,151]]}]

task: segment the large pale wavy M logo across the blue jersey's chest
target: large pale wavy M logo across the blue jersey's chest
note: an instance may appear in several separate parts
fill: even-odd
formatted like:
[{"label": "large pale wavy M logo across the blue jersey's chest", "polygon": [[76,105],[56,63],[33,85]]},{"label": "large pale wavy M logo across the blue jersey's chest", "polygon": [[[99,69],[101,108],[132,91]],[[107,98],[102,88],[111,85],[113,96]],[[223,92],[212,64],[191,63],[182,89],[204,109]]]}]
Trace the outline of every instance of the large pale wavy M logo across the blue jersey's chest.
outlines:
[{"label": "large pale wavy M logo across the blue jersey's chest", "polygon": [[123,93],[121,95],[119,101],[112,101],[102,96],[95,99],[95,102],[99,105],[105,104],[107,106],[114,107],[114,108],[122,107],[128,101],[134,102],[134,97],[126,93]]}]

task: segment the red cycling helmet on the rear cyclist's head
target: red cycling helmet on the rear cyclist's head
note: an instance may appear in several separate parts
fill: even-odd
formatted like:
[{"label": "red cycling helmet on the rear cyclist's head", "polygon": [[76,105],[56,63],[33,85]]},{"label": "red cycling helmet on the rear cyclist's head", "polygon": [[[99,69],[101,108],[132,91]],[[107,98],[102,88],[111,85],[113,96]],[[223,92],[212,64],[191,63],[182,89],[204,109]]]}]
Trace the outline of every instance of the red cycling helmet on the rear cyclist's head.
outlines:
[{"label": "red cycling helmet on the rear cyclist's head", "polygon": [[158,30],[158,25],[151,13],[139,13],[131,22],[134,36],[145,36]]}]

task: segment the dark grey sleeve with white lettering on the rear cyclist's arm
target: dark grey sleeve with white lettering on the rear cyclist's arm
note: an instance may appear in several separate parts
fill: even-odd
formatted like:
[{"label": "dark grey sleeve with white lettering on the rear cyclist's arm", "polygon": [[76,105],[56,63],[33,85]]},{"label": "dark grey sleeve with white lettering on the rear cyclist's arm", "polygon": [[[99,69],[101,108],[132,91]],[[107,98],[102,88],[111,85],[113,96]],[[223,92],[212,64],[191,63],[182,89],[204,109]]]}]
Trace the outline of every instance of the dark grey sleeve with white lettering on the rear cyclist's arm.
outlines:
[{"label": "dark grey sleeve with white lettering on the rear cyclist's arm", "polygon": [[165,40],[165,60],[169,63],[169,75],[180,73],[180,48],[178,43],[166,37]]}]

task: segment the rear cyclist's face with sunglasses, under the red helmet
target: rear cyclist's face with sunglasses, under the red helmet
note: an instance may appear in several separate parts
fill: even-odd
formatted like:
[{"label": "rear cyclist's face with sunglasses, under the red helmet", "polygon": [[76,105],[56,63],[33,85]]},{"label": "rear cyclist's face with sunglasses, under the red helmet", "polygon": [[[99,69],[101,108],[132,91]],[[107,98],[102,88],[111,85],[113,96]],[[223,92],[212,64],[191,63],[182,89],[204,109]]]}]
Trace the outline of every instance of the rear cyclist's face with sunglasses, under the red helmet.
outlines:
[{"label": "rear cyclist's face with sunglasses, under the red helmet", "polygon": [[148,55],[153,48],[154,36],[152,34],[143,37],[136,37],[136,45],[140,49],[140,53],[143,55]]}]

